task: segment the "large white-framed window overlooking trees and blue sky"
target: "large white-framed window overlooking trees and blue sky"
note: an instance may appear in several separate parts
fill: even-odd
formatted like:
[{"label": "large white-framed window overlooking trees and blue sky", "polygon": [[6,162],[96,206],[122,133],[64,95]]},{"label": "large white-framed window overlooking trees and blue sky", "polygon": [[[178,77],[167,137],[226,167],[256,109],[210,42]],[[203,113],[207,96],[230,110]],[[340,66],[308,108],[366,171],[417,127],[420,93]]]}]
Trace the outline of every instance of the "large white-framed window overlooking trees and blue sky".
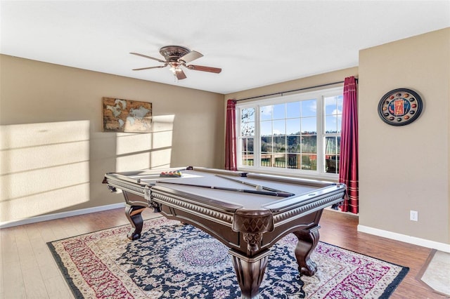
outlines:
[{"label": "large white-framed window overlooking trees and blue sky", "polygon": [[313,176],[339,173],[342,88],[236,107],[240,168]]}]

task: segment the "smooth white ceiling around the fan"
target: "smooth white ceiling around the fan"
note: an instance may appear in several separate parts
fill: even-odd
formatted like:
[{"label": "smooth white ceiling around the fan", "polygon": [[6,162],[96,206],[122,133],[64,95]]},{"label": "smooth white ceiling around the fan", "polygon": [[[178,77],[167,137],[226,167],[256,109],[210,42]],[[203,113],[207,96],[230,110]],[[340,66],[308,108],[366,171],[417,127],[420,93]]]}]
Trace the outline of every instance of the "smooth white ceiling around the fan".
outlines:
[{"label": "smooth white ceiling around the fan", "polygon": [[[4,1],[2,54],[233,93],[358,65],[359,50],[450,27],[450,1]],[[162,58],[203,53],[175,81]]]}]

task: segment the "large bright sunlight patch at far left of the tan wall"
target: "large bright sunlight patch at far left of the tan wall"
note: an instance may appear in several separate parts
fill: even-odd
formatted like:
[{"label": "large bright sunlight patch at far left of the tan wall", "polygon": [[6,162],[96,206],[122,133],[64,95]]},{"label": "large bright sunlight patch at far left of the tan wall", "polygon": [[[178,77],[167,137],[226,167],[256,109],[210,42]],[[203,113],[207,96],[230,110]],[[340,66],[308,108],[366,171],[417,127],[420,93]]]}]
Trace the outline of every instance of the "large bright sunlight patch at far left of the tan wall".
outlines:
[{"label": "large bright sunlight patch at far left of the tan wall", "polygon": [[89,121],[0,126],[0,222],[89,201]]}]

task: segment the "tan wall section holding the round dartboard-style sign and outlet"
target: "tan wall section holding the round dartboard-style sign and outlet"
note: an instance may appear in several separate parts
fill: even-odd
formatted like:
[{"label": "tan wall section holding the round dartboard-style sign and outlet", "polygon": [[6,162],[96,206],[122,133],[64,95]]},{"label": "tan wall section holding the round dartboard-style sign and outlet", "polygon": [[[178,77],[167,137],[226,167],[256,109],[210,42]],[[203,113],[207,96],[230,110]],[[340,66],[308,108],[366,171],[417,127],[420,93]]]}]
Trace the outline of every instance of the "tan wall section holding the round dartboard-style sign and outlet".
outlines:
[{"label": "tan wall section holding the round dartboard-style sign and outlet", "polygon": [[[449,28],[359,52],[359,225],[450,243],[449,83]],[[378,117],[380,98],[395,88],[424,101],[407,126]]]}]

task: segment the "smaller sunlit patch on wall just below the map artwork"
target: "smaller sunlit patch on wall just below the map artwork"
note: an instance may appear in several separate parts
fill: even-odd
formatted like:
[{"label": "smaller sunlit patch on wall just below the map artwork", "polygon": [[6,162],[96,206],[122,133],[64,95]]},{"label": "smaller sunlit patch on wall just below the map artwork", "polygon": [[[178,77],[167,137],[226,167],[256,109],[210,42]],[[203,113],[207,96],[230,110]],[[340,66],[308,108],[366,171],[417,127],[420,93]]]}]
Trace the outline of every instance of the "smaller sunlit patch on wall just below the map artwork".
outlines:
[{"label": "smaller sunlit patch on wall just below the map artwork", "polygon": [[117,133],[116,171],[170,167],[174,118],[153,117],[153,133]]}]

